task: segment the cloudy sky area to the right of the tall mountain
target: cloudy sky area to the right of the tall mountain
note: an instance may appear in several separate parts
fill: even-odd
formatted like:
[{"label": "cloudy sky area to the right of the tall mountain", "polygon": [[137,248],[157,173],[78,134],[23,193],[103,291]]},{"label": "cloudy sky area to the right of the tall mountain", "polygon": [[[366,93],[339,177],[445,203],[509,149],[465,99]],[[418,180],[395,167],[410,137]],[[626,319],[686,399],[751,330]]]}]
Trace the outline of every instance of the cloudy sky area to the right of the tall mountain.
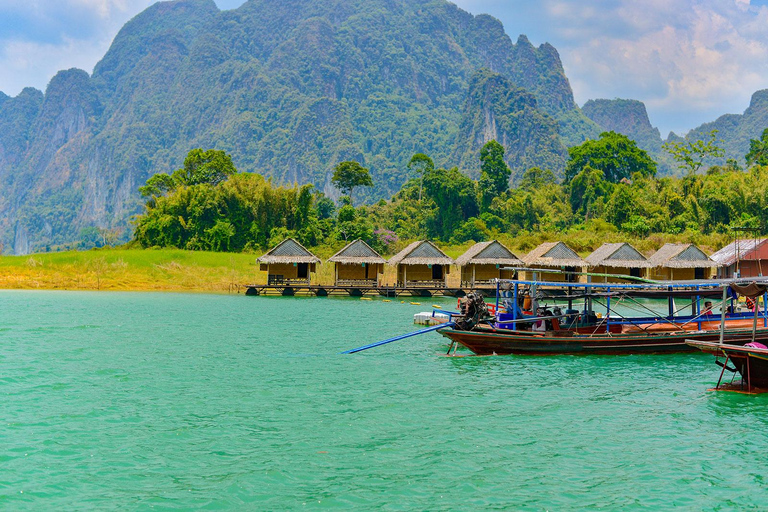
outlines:
[{"label": "cloudy sky area to the right of the tall mountain", "polygon": [[[455,0],[560,52],[576,100],[634,98],[686,131],[768,88],[768,7],[749,0]],[[760,2],[765,4],[764,1]]]}]

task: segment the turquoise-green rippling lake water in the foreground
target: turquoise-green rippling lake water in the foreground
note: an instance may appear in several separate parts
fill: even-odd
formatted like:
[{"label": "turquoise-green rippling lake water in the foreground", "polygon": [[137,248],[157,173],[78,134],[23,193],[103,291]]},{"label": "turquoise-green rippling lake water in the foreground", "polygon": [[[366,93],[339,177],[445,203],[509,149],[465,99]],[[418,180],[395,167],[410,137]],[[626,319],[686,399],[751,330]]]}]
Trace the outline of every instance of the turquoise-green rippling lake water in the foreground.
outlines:
[{"label": "turquoise-green rippling lake water in the foreground", "polygon": [[339,355],[421,302],[0,292],[0,508],[768,508],[711,357]]}]

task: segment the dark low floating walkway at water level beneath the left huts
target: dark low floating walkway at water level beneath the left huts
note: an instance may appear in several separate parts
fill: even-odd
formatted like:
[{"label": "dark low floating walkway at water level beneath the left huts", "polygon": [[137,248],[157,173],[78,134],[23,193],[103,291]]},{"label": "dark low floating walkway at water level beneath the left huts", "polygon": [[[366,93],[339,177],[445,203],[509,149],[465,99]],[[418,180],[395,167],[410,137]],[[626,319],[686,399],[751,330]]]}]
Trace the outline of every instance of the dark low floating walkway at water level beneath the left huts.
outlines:
[{"label": "dark low floating walkway at water level beneath the left huts", "polygon": [[486,297],[495,297],[495,287],[453,288],[445,286],[385,286],[385,285],[322,285],[322,284],[246,284],[246,295],[314,295],[327,297],[329,295],[349,295],[362,297],[364,295],[381,295],[382,297],[399,297],[409,295],[412,297],[432,297],[443,295],[446,297],[463,297],[469,291],[480,291]]}]

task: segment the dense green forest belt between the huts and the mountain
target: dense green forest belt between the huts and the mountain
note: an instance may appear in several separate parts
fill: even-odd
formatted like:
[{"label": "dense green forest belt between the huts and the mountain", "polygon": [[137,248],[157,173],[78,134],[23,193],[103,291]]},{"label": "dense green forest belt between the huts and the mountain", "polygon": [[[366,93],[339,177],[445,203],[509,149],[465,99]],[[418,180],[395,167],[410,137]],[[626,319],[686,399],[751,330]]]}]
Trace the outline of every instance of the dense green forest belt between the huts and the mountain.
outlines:
[{"label": "dense green forest belt between the huts and the mountain", "polygon": [[[696,148],[669,148],[686,175],[658,177],[656,163],[634,141],[606,132],[571,148],[564,180],[551,170],[531,167],[510,188],[504,147],[491,141],[480,152],[478,180],[419,154],[411,166],[418,176],[389,200],[359,206],[350,196],[334,202],[312,185],[276,186],[261,175],[237,173],[229,164],[230,170],[211,179],[215,173],[204,170],[210,164],[202,155],[218,154],[220,161],[228,156],[196,150],[184,168],[157,175],[143,187],[148,200],[136,221],[136,242],[261,251],[289,236],[308,247],[362,238],[391,254],[421,238],[462,244],[514,237],[531,245],[558,233],[570,234],[577,250],[590,250],[607,239],[653,234],[696,240],[727,234],[734,226],[766,232],[768,130],[752,141],[746,170],[731,163],[696,173],[707,157]],[[526,242],[515,245],[525,248]]]}]

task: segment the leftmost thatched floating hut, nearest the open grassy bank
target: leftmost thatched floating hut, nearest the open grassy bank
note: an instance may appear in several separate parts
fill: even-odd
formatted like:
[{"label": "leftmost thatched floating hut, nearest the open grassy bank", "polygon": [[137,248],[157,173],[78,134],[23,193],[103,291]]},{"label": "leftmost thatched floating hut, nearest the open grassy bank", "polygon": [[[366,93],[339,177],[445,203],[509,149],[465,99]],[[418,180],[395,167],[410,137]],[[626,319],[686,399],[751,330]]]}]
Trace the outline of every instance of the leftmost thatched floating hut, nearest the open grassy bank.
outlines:
[{"label": "leftmost thatched floating hut, nearest the open grassy bank", "polygon": [[309,285],[320,258],[293,238],[286,238],[257,258],[259,269],[267,272],[269,286]]}]

